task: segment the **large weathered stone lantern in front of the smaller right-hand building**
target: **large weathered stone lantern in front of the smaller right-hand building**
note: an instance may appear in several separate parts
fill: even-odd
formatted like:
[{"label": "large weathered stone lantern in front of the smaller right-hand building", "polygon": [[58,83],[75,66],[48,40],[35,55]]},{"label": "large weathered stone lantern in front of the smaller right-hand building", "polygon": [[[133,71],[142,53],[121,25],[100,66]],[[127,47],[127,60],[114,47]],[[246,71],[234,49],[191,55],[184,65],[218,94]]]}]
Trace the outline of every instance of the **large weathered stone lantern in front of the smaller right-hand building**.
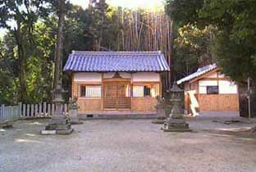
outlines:
[{"label": "large weathered stone lantern in front of the smaller right-hand building", "polygon": [[189,124],[185,123],[185,119],[183,117],[184,111],[181,106],[181,97],[184,96],[184,91],[178,87],[176,82],[172,85],[170,91],[172,109],[170,116],[165,120],[163,130],[166,132],[190,131],[191,129],[189,128]]}]

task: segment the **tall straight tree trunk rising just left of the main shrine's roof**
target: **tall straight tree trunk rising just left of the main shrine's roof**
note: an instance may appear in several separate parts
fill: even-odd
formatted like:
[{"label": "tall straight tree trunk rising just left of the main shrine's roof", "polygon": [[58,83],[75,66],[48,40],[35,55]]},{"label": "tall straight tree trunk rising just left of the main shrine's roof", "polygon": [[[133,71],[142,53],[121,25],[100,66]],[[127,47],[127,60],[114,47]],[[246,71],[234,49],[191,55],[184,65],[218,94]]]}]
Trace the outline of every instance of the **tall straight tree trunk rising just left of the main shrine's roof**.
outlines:
[{"label": "tall straight tree trunk rising just left of the main shrine's roof", "polygon": [[58,82],[62,79],[62,52],[63,52],[63,30],[66,16],[65,0],[58,2],[58,31],[57,31],[57,46],[55,51],[55,68],[53,88],[57,87]]}]

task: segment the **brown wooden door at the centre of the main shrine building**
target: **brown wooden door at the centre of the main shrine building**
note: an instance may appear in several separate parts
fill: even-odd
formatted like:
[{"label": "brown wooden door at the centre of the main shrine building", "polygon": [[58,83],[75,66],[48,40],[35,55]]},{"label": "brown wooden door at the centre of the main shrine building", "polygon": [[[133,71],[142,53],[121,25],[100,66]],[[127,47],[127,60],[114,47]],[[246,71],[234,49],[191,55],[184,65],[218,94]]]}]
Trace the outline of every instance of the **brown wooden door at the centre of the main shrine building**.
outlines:
[{"label": "brown wooden door at the centre of the main shrine building", "polygon": [[123,82],[105,83],[104,108],[117,110],[130,109],[130,84]]}]

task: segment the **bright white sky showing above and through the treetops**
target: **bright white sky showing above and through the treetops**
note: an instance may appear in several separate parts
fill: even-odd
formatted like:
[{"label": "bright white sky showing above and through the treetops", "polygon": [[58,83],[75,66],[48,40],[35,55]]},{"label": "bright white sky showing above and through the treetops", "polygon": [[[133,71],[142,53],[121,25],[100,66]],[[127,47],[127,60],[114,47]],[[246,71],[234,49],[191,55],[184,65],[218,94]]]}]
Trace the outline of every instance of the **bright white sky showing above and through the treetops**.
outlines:
[{"label": "bright white sky showing above and through the treetops", "polygon": [[[156,10],[162,8],[164,0],[107,0],[107,3],[113,7],[144,8]],[[89,0],[70,0],[71,3],[80,5],[83,8],[88,7]],[[6,33],[6,29],[0,29],[0,38]]]}]

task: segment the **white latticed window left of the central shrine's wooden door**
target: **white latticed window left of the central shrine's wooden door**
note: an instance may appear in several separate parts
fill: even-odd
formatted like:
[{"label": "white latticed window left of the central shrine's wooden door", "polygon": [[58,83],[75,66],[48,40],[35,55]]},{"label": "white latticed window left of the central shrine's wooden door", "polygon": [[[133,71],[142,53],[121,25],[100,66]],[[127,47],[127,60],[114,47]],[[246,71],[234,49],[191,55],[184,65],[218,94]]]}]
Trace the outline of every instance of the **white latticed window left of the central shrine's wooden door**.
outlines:
[{"label": "white latticed window left of the central shrine's wooden door", "polygon": [[100,85],[80,86],[80,97],[101,97],[101,86]]}]

